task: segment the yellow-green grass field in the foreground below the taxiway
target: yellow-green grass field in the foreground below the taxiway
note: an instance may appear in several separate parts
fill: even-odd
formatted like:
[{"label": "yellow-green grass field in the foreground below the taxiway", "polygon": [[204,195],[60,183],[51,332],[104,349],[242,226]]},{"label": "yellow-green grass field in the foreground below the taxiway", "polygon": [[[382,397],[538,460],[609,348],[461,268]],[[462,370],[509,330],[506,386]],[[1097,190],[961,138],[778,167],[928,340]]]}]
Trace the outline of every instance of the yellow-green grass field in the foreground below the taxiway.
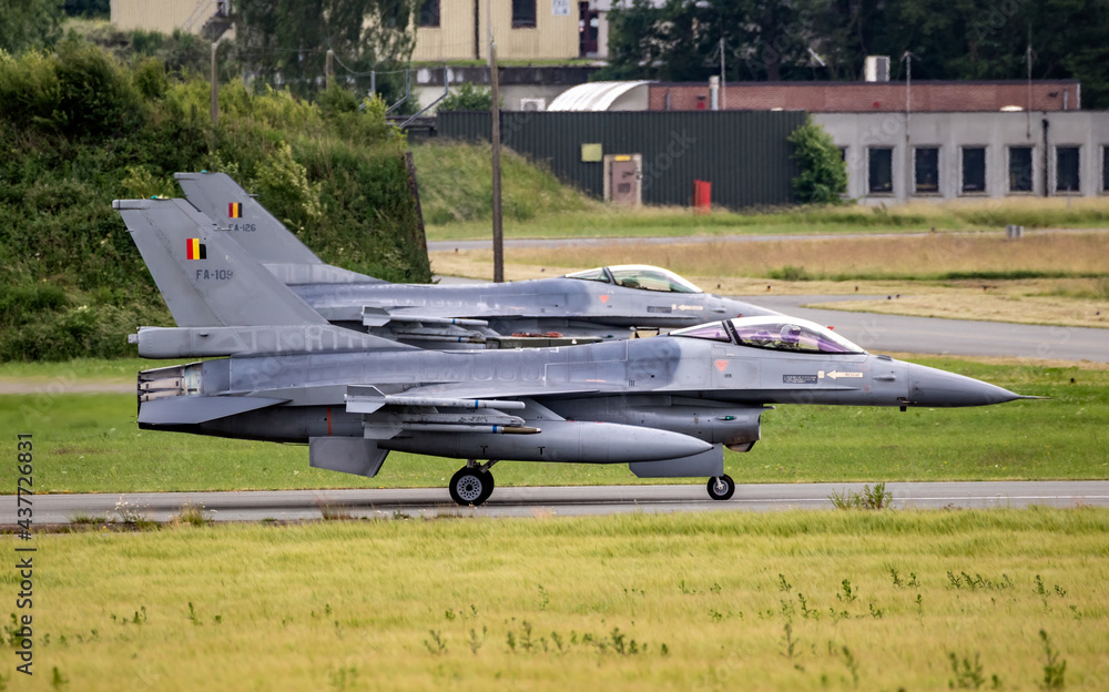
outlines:
[{"label": "yellow-green grass field in the foreground below the taxiway", "polygon": [[43,535],[18,689],[1103,689],[1107,536],[1095,508]]}]

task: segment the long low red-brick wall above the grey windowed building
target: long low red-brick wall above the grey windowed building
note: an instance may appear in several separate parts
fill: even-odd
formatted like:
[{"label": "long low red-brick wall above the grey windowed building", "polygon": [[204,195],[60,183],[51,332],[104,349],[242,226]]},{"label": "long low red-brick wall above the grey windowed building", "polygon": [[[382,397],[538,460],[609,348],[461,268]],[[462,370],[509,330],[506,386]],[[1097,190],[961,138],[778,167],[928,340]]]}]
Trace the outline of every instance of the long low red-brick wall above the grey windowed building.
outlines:
[{"label": "long low red-brick wall above the grey windowed building", "polygon": [[[905,111],[905,82],[736,82],[723,89],[725,110],[808,111],[810,113],[882,113]],[[1028,106],[1028,82],[913,82],[914,112],[1000,111]],[[668,109],[669,102],[669,109]],[[710,108],[706,83],[651,84],[650,110],[694,111]],[[1079,110],[1077,81],[1031,83],[1032,111]]]}]

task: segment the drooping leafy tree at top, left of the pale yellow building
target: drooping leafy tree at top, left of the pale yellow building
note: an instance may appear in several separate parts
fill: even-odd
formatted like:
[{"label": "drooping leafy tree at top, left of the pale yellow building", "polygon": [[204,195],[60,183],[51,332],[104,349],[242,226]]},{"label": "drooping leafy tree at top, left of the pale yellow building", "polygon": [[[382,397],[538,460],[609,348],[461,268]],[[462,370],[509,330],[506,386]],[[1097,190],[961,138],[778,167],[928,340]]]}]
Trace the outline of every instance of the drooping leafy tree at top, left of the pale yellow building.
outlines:
[{"label": "drooping leafy tree at top, left of the pale yellow building", "polygon": [[312,95],[324,88],[327,50],[336,79],[389,101],[416,44],[415,0],[238,0],[236,49],[248,73],[265,84]]}]

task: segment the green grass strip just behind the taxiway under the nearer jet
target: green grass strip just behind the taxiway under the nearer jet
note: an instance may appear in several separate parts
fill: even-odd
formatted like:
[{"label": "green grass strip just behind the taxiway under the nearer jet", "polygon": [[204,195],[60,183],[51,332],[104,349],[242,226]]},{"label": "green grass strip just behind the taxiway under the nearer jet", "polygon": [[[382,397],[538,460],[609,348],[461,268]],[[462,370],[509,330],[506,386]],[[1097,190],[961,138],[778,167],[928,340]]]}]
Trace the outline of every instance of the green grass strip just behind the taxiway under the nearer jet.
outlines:
[{"label": "green grass strip just behind the taxiway under the nearer jet", "polygon": [[[728,452],[729,474],[740,484],[1109,477],[1109,370],[913,359],[1054,398],[904,414],[779,406],[763,416],[763,439],[752,451]],[[140,367],[113,363],[90,372],[100,381],[126,384]],[[11,431],[3,448],[14,454],[16,432],[35,436],[40,492],[445,487],[461,466],[394,452],[373,479],[322,471],[308,467],[307,450],[298,446],[139,430],[133,396],[60,394],[81,380],[63,364],[0,367],[3,379],[12,381],[6,377],[11,374],[44,387],[43,394],[0,396],[0,428]],[[516,462],[496,472],[498,486],[659,482],[635,479],[625,466]],[[14,487],[12,474],[0,471],[0,491]]]}]

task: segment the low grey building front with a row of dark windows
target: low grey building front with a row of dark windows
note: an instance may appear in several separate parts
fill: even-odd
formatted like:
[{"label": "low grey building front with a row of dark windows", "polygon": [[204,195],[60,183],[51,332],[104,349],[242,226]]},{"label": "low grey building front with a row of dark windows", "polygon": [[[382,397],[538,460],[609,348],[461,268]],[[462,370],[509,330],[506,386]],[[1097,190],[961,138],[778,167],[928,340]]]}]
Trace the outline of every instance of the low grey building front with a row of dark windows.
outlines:
[{"label": "low grey building front with a row of dark windows", "polygon": [[867,203],[1109,192],[1109,113],[814,113]]}]

